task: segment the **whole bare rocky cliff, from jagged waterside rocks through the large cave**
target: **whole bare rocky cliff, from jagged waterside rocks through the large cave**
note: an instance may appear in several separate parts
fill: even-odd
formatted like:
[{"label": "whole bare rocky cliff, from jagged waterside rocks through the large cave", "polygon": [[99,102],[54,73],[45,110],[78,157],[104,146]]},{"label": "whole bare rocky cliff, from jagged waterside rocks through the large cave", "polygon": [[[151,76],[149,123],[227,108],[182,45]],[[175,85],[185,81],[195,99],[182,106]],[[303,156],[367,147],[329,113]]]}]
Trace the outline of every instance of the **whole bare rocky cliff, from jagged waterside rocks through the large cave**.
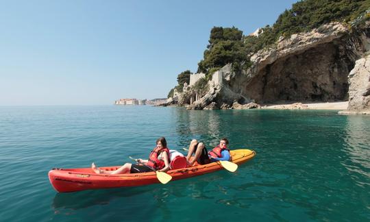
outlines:
[{"label": "whole bare rocky cliff, from jagged waterside rocks through the large cave", "polygon": [[367,55],[369,42],[369,21],[361,29],[330,23],[280,38],[271,49],[251,55],[253,64],[246,71],[234,72],[228,64],[214,73],[208,93],[189,108],[232,108],[234,102],[251,101],[348,100],[348,75],[356,60]]}]

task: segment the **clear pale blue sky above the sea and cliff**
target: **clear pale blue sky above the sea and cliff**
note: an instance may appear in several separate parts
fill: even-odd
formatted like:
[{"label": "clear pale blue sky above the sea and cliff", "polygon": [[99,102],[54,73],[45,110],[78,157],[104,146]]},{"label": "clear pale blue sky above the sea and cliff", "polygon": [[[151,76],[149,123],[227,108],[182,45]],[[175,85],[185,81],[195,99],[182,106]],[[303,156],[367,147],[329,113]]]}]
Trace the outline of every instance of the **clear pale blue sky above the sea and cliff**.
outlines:
[{"label": "clear pale blue sky above the sea and cliff", "polygon": [[210,29],[272,25],[295,1],[0,1],[0,106],[167,97]]}]

